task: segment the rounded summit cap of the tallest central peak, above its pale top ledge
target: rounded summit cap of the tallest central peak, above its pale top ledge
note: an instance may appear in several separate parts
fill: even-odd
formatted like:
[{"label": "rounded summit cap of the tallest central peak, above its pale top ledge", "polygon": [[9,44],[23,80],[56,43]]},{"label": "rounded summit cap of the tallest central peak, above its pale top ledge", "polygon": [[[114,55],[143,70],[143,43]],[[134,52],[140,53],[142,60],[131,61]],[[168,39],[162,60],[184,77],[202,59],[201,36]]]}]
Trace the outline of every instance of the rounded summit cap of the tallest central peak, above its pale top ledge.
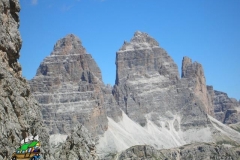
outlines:
[{"label": "rounded summit cap of the tallest central peak, above its pale top ledge", "polygon": [[136,31],[130,42],[124,41],[120,51],[159,47],[159,43],[147,33]]}]

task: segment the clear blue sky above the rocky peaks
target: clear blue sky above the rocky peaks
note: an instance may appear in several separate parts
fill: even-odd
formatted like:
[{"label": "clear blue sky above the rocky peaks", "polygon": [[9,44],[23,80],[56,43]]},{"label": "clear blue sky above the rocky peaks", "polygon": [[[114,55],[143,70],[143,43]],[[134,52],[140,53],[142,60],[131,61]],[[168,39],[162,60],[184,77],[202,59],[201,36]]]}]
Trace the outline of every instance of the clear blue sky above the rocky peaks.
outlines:
[{"label": "clear blue sky above the rocky peaks", "polygon": [[20,63],[32,79],[54,44],[77,35],[114,84],[116,52],[139,30],[155,38],[181,69],[203,65],[208,85],[240,99],[239,0],[20,0]]}]

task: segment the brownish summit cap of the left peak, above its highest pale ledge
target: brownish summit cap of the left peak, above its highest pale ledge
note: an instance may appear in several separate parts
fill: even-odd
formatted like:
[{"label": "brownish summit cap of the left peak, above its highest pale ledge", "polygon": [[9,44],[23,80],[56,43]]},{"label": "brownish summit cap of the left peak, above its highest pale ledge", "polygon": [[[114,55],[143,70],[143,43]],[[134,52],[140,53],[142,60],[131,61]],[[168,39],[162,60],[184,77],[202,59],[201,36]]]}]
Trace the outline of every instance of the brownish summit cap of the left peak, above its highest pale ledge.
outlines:
[{"label": "brownish summit cap of the left peak, above its highest pale ledge", "polygon": [[57,41],[51,55],[71,54],[86,54],[86,50],[82,46],[81,40],[73,34],[69,34]]}]

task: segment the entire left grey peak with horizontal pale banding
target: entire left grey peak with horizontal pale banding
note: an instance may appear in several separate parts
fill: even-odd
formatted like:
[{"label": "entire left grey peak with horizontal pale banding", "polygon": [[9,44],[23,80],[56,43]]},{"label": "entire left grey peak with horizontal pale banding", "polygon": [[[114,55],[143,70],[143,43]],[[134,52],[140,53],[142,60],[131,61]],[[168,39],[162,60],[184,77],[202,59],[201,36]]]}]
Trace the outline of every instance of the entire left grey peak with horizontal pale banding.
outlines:
[{"label": "entire left grey peak with horizontal pale banding", "polygon": [[94,135],[107,129],[101,71],[76,36],[59,40],[29,83],[51,134],[68,134],[79,122]]}]

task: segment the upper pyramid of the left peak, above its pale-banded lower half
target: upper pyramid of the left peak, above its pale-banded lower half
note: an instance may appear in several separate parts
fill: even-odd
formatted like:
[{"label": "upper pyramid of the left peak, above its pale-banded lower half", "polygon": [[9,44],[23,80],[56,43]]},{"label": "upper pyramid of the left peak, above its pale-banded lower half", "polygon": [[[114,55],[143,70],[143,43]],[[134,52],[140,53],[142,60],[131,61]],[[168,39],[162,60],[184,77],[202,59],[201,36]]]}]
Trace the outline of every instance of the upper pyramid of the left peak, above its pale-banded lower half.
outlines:
[{"label": "upper pyramid of the left peak, above its pale-banded lower half", "polygon": [[[50,92],[59,89],[61,82],[78,83],[82,80],[92,84],[102,83],[101,71],[96,62],[90,54],[87,54],[81,41],[72,34],[55,44],[51,55],[39,66],[34,80],[37,81],[41,79],[40,77],[49,82],[41,86],[44,87],[42,90]],[[36,85],[32,90],[37,92],[40,88]]]}]

